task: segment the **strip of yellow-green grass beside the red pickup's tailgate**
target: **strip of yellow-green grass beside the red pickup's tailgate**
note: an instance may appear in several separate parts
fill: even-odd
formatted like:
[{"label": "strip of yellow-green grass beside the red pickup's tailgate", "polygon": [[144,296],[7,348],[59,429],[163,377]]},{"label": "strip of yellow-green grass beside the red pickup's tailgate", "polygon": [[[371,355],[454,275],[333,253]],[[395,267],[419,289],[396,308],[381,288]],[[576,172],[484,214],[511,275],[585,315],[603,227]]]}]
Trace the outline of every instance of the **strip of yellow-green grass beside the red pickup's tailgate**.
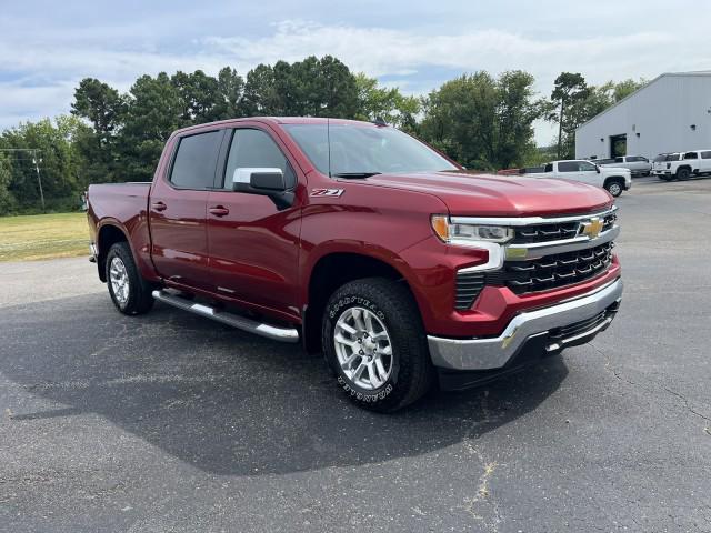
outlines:
[{"label": "strip of yellow-green grass beside the red pickup's tailgate", "polygon": [[0,261],[89,255],[86,213],[0,218]]}]

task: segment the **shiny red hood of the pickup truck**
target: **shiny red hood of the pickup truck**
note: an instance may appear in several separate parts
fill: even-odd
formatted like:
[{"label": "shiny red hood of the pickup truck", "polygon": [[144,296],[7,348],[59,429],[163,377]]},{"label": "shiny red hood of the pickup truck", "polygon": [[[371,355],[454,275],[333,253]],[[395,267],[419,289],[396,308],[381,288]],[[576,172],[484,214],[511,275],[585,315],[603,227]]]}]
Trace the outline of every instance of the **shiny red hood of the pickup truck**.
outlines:
[{"label": "shiny red hood of the pickup truck", "polygon": [[568,180],[430,172],[379,174],[367,183],[438,197],[453,215],[534,217],[578,214],[612,204],[604,190]]}]

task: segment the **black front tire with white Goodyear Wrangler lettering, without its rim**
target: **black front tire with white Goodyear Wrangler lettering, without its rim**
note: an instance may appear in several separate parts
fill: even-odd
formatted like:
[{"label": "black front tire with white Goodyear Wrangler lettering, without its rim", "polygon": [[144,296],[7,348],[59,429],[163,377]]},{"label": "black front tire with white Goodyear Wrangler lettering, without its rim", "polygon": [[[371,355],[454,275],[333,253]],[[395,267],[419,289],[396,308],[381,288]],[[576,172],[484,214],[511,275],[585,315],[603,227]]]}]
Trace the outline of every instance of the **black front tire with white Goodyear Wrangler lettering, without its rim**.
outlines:
[{"label": "black front tire with white Goodyear Wrangler lettering, without its rim", "polygon": [[[336,324],[351,308],[373,313],[384,325],[391,341],[392,370],[377,389],[359,386],[344,373],[338,361]],[[434,369],[420,312],[412,295],[401,283],[383,278],[365,278],[338,289],[326,306],[321,339],[326,360],[339,386],[361,408],[393,412],[419,400],[432,385]]]}]

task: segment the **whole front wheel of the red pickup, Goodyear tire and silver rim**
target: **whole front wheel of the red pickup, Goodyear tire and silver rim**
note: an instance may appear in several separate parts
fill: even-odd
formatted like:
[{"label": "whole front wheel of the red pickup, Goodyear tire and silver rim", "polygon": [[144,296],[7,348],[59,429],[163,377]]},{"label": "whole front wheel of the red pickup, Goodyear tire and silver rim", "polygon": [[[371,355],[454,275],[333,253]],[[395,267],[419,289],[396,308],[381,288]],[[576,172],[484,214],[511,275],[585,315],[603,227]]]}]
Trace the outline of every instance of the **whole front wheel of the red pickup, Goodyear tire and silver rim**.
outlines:
[{"label": "whole front wheel of the red pickup, Goodyear tire and silver rim", "polygon": [[338,289],[323,314],[322,343],[339,386],[360,406],[397,411],[432,384],[420,313],[401,283],[368,278]]}]

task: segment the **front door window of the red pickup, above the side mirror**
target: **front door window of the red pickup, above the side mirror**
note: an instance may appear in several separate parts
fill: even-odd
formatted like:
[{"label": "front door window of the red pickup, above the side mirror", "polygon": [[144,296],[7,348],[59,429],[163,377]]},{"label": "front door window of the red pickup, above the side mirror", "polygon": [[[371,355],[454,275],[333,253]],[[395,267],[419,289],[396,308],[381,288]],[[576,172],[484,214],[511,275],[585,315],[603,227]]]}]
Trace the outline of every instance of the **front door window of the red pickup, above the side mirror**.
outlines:
[{"label": "front door window of the red pickup, above the side mirror", "polygon": [[289,161],[273,139],[261,130],[247,128],[234,130],[224,173],[226,189],[232,189],[234,171],[244,168],[281,169],[287,188],[291,189],[297,184],[297,177]]}]

